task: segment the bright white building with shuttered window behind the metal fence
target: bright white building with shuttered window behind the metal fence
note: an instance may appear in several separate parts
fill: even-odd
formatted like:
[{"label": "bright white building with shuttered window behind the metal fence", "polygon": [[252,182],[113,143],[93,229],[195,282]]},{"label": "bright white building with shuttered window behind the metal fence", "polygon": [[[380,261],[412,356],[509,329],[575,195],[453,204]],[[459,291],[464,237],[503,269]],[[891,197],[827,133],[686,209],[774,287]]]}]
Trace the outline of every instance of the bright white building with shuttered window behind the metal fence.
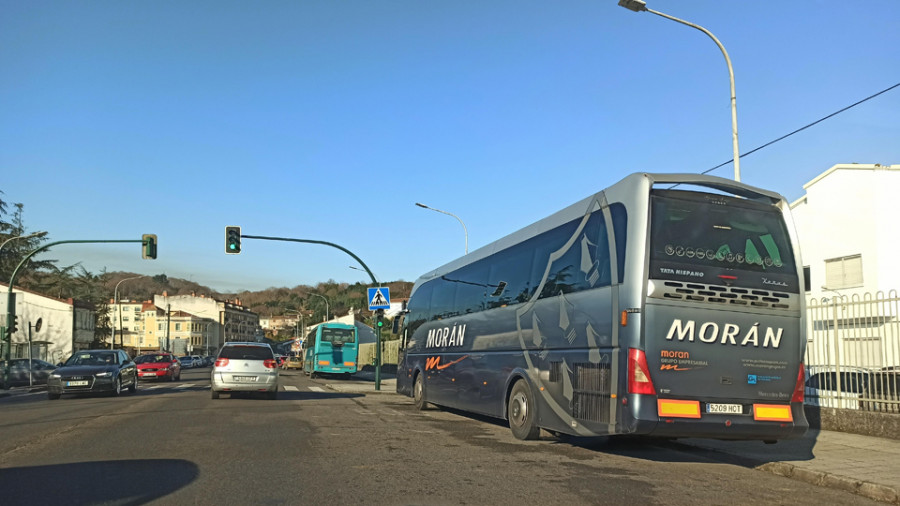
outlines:
[{"label": "bright white building with shuttered window behind the metal fence", "polygon": [[791,204],[810,297],[900,290],[900,165],[835,165]]}]

